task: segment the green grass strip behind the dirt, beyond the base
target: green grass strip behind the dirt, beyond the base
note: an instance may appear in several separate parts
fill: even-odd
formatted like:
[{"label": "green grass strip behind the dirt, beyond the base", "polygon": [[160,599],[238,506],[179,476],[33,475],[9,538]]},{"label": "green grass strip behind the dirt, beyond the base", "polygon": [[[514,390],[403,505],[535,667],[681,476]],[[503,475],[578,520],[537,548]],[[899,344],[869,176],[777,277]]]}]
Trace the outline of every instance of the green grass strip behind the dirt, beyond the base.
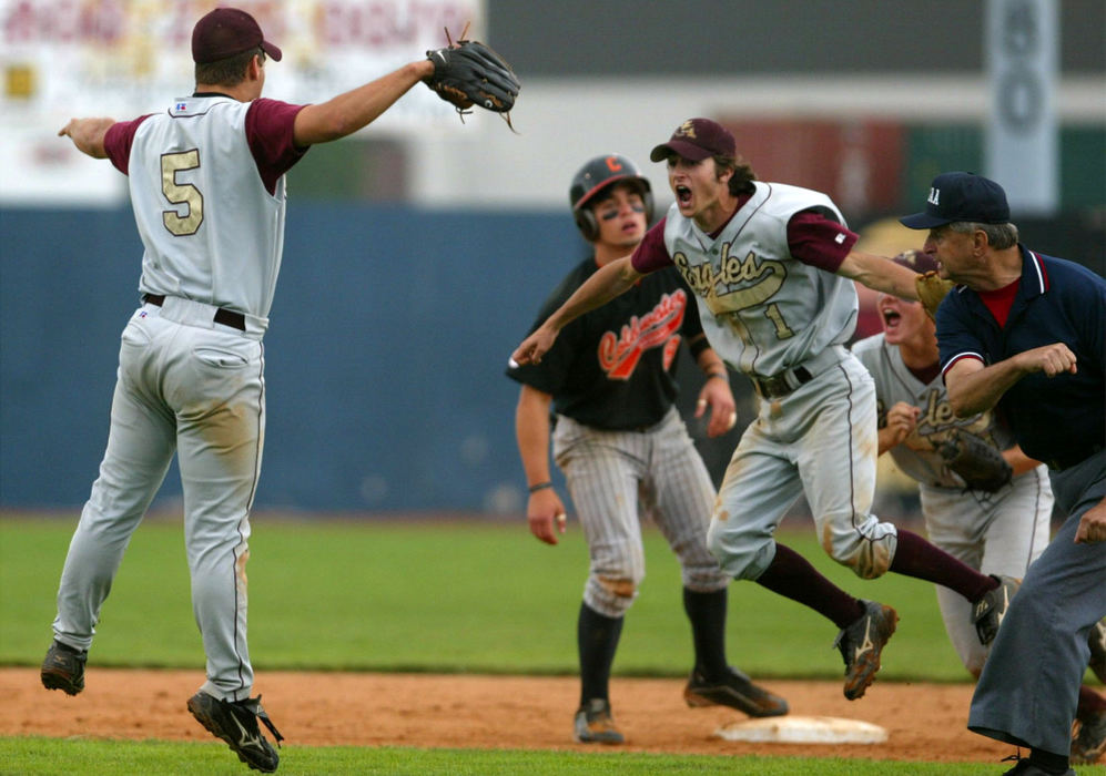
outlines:
[{"label": "green grass strip behind the dirt, beyond the base", "polygon": [[[0,663],[38,665],[50,642],[58,579],[75,517],[0,520]],[[525,523],[253,522],[250,646],[258,670],[524,674],[576,672],[576,614],[587,574],[578,527],[561,544]],[[830,561],[813,532],[783,538],[845,590],[902,617],[883,678],[962,682],[930,584],[864,581]],[[646,532],[648,575],[627,616],[615,670],[678,676],[690,661],[679,566]],[[755,584],[730,588],[731,662],[759,676],[838,678],[836,629]],[[325,633],[325,639],[318,634]],[[195,667],[200,635],[175,521],[134,534],[104,605],[98,665]]]}]

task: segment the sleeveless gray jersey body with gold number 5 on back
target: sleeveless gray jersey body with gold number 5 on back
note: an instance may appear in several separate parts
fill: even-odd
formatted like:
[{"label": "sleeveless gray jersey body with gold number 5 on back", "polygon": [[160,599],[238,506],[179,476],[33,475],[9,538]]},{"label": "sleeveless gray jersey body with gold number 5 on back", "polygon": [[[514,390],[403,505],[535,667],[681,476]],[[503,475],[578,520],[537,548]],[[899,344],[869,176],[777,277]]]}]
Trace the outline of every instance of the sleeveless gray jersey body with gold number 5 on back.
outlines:
[{"label": "sleeveless gray jersey body with gold number 5 on back", "polygon": [[185,98],[139,125],[129,181],[142,292],[267,318],[284,251],[285,184],[265,190],[250,103]]}]

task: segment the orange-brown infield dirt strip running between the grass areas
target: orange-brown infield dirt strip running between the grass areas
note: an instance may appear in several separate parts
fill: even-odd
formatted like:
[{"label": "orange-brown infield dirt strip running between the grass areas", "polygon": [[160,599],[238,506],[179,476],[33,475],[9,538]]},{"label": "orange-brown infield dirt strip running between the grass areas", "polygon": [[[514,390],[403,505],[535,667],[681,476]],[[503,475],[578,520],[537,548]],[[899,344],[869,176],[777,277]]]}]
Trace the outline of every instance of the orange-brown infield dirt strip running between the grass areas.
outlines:
[{"label": "orange-brown infield dirt strip running between the grass areas", "polygon": [[[0,735],[206,739],[184,703],[200,672],[90,668],[77,697],[47,692],[33,668],[0,670]],[[792,714],[863,719],[887,729],[883,744],[727,742],[712,734],[744,718],[688,708],[677,680],[616,678],[615,717],[625,749],[687,754],[769,754],[997,764],[1013,747],[965,728],[970,685],[876,682],[849,702],[839,683],[764,682]],[[571,741],[575,678],[429,674],[263,672],[255,690],[286,746],[396,745],[588,749]]]}]

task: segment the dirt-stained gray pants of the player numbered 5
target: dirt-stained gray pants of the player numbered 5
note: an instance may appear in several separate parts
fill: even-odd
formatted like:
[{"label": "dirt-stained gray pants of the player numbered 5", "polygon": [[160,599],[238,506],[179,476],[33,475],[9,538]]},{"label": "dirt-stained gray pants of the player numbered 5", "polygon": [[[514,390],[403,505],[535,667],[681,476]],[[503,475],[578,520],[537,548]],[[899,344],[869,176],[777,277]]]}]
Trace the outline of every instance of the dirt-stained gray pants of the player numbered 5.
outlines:
[{"label": "dirt-stained gray pants of the player numbered 5", "polygon": [[202,688],[241,701],[253,686],[245,564],[264,443],[264,357],[258,338],[212,325],[212,309],[193,304],[169,320],[144,305],[123,330],[108,448],[65,558],[53,630],[79,650],[92,644],[131,534],[176,452],[207,657]]}]

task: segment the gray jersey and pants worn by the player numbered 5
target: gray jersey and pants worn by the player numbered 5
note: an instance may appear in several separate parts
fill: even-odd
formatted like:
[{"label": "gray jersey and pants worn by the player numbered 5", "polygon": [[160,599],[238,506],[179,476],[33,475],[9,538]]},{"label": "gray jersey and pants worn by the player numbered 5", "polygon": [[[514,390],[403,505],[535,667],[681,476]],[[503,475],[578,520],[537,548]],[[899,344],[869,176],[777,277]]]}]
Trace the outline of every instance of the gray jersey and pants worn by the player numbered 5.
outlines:
[{"label": "gray jersey and pants worn by the player numbered 5", "polygon": [[[284,243],[283,174],[271,194],[248,111],[225,96],[179,100],[130,123],[125,164],[114,155],[125,137],[113,145],[105,135],[109,157],[130,178],[145,246],[140,288],[154,298],[123,329],[108,446],[65,559],[53,624],[58,641],[92,644],[130,537],[175,455],[206,655],[202,690],[226,701],[244,701],[253,687],[245,568],[265,440],[261,340]],[[256,142],[287,149],[293,120],[286,112],[255,127]],[[283,169],[300,155],[288,154]]]}]

